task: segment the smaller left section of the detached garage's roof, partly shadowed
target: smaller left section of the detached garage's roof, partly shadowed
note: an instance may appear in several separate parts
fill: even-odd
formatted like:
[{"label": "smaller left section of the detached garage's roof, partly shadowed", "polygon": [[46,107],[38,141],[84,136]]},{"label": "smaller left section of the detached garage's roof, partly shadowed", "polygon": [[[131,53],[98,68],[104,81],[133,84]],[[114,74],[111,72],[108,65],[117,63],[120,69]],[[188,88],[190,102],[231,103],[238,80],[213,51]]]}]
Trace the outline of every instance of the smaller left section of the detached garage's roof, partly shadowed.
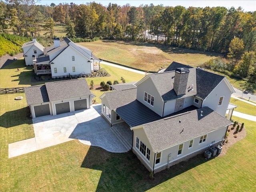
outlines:
[{"label": "smaller left section of the detached garage's roof, partly shadowed", "polygon": [[24,89],[28,105],[49,102],[45,85],[25,87]]}]

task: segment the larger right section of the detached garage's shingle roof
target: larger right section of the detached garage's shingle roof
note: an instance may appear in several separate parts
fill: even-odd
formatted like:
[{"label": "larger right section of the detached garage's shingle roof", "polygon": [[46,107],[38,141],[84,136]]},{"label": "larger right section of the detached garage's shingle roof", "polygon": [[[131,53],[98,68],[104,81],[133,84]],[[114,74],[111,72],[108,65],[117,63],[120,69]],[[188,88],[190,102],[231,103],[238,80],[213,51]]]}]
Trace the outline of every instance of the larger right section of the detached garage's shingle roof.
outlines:
[{"label": "larger right section of the detached garage's shingle roof", "polygon": [[45,86],[50,101],[93,95],[85,79],[48,82]]}]

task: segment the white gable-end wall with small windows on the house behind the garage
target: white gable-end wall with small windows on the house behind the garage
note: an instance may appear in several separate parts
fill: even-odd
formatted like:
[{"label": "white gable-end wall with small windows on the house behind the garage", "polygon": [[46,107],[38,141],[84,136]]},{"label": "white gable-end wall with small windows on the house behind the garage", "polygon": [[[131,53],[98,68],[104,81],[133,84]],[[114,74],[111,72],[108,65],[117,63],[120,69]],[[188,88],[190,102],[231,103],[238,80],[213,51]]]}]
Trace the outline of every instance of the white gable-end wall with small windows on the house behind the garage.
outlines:
[{"label": "white gable-end wall with small windows on the house behind the garage", "polygon": [[[72,61],[72,56],[75,60]],[[54,64],[51,64],[52,76],[66,76],[66,75],[78,75],[78,74],[90,74],[91,63],[82,54],[74,50],[71,46],[66,48],[57,58],[53,60]],[[64,72],[66,67],[66,73]],[[73,72],[75,67],[75,72]],[[57,73],[54,72],[54,68],[57,68]]]}]

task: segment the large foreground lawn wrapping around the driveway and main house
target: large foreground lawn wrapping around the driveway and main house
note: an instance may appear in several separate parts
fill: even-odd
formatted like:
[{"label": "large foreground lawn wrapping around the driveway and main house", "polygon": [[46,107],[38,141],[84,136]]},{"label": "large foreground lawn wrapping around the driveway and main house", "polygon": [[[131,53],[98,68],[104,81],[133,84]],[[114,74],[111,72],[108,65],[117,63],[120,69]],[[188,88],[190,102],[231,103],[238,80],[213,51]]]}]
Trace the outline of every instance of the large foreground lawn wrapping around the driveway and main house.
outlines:
[{"label": "large foreground lawn wrapping around the driveway and main house", "polygon": [[[244,122],[246,138],[225,156],[197,156],[154,175],[132,152],[115,154],[73,140],[8,158],[8,144],[34,137],[26,100],[0,95],[1,191],[255,191],[255,122]],[[5,102],[2,102],[5,101]],[[239,134],[239,133],[238,133]]]}]

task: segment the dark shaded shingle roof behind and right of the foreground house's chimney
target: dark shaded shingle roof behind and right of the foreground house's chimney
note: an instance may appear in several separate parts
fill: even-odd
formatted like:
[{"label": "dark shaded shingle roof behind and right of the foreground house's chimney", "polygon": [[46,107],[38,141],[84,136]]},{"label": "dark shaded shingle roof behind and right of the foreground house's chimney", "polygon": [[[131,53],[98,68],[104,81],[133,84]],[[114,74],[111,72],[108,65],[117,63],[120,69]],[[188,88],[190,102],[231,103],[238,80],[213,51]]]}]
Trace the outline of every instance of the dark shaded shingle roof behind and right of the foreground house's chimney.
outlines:
[{"label": "dark shaded shingle roof behind and right of the foreground house's chimney", "polygon": [[205,99],[210,94],[210,92],[212,92],[212,90],[214,90],[214,88],[224,79],[224,76],[219,74],[193,68],[191,66],[177,62],[172,62],[164,72],[174,71],[176,68],[180,67],[189,68],[190,71],[192,69],[196,71],[196,83],[191,83],[190,79],[188,79],[188,82],[194,85],[194,89],[196,88],[196,95],[202,99]]}]

